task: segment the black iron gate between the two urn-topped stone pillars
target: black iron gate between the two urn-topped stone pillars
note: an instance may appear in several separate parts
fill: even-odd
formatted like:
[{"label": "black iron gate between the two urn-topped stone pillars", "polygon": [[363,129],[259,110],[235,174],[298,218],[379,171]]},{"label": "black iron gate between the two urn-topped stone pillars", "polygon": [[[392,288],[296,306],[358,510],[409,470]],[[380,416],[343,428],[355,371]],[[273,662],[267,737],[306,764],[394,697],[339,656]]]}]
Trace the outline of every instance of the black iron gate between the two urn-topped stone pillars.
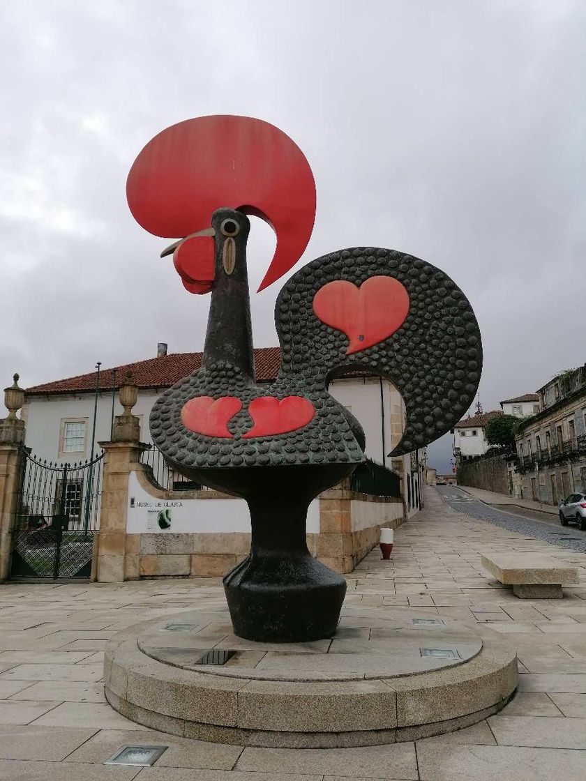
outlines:
[{"label": "black iron gate between the two urn-topped stone pillars", "polygon": [[53,464],[23,454],[13,578],[89,578],[99,527],[104,454]]}]

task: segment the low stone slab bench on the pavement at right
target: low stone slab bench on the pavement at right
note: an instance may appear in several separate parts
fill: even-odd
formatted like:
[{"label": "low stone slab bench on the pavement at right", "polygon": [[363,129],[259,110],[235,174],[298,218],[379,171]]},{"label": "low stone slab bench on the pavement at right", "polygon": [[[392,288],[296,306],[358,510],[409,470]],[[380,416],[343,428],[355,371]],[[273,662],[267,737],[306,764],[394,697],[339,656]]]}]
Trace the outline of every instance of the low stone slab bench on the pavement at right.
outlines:
[{"label": "low stone slab bench on the pavement at right", "polygon": [[562,585],[578,583],[577,567],[535,553],[492,553],[481,556],[483,566],[521,599],[561,599]]}]

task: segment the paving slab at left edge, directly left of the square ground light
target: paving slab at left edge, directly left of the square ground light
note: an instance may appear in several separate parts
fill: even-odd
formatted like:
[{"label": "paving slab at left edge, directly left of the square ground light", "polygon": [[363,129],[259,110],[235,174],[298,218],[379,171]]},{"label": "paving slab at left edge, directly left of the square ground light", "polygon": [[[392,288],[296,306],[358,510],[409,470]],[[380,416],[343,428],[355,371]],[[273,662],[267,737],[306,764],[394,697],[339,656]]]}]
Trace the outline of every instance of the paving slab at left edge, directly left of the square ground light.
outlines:
[{"label": "paving slab at left edge, directly left of the square ground light", "polygon": [[[0,759],[59,761],[89,740],[95,729],[49,726],[0,726]],[[108,759],[108,757],[106,757]]]}]

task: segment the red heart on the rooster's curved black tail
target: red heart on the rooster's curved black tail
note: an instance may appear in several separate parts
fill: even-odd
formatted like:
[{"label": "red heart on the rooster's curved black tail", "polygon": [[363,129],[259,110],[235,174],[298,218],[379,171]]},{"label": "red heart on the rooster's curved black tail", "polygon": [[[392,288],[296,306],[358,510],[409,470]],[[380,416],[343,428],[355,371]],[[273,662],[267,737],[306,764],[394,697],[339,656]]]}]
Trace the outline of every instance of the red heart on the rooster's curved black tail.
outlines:
[{"label": "red heart on the rooster's curved black tail", "polygon": [[336,280],[320,287],[313,312],[350,340],[346,355],[366,350],[391,336],[409,314],[409,294],[392,276],[370,276],[360,287]]}]

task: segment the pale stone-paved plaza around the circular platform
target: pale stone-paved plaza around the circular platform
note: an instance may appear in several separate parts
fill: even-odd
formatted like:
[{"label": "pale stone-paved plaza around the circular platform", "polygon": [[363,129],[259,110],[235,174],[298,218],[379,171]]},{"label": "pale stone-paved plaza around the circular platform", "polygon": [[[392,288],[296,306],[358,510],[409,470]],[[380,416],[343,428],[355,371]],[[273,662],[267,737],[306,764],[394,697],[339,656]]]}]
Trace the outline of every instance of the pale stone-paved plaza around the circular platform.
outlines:
[{"label": "pale stone-paved plaza around the circular platform", "polygon": [[[446,736],[347,749],[242,748],[155,733],[105,702],[105,642],[159,615],[223,608],[220,580],[7,583],[0,586],[0,779],[584,781],[586,554],[524,526],[464,515],[434,489],[425,501],[395,532],[391,562],[375,550],[348,576],[345,604],[420,609],[505,635],[517,649],[520,687],[498,715]],[[571,563],[581,583],[563,600],[519,600],[481,569],[481,554],[503,549]],[[152,768],[103,764],[127,744],[169,748]]]}]

